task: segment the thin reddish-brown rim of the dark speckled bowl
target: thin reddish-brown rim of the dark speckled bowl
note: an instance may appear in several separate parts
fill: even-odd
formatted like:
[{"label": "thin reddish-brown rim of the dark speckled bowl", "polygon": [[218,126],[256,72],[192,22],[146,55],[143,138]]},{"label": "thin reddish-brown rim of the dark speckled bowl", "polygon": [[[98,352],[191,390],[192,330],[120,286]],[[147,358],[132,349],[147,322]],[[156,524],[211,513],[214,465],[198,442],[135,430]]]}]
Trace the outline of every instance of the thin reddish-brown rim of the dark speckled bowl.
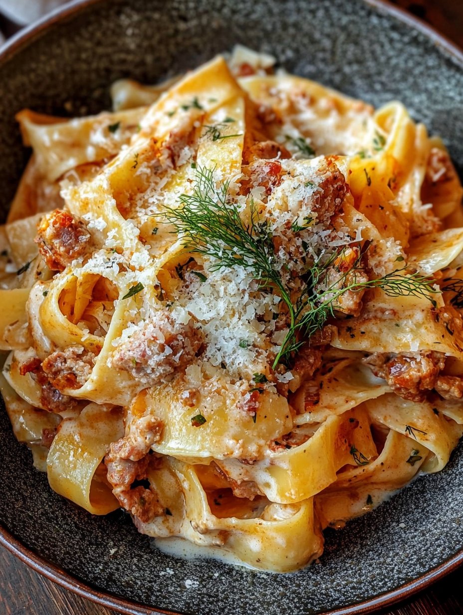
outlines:
[{"label": "thin reddish-brown rim of the dark speckled bowl", "polygon": [[[98,4],[104,0],[73,0],[68,2],[63,7],[58,7],[52,10],[45,17],[42,17],[37,22],[32,23],[26,28],[18,31],[12,36],[0,49],[0,68],[7,63],[11,57],[17,52],[24,49],[30,42],[39,38],[42,33],[47,31],[55,23],[61,22],[61,20],[68,17],[73,17],[84,11],[93,4]],[[417,30],[429,38],[436,47],[440,48],[446,54],[450,55],[454,62],[456,62],[461,69],[463,69],[463,50],[457,46],[453,41],[441,34],[433,26],[424,22],[415,15],[410,14],[402,7],[390,4],[388,0],[362,0],[366,5],[377,10],[379,13],[392,15],[398,21],[405,23],[410,28]],[[65,570],[59,566],[53,564],[51,561],[47,561],[46,558],[42,558],[33,550],[28,549],[22,542],[18,541],[9,531],[0,523],[0,546],[5,547],[9,552],[23,561],[27,566],[32,568],[37,573],[46,577],[50,581],[53,581],[70,590],[73,593],[87,598],[101,606],[106,608],[116,609],[121,613],[127,615],[148,615],[162,614],[162,615],[180,615],[176,611],[165,611],[163,609],[156,608],[154,606],[143,605],[141,603],[129,600],[128,598],[120,598],[109,592],[101,591],[91,587],[91,585],[85,584],[77,577],[74,577],[70,573],[66,573]],[[389,592],[381,593],[374,598],[368,598],[355,605],[341,607],[331,611],[326,611],[320,615],[365,615],[371,613],[376,609],[383,609],[390,607],[398,601],[410,598],[420,590],[425,589],[433,582],[446,576],[456,570],[463,564],[463,548],[456,552],[448,560],[443,561],[440,565],[436,566],[432,570],[425,574],[409,581],[400,587]]]}]

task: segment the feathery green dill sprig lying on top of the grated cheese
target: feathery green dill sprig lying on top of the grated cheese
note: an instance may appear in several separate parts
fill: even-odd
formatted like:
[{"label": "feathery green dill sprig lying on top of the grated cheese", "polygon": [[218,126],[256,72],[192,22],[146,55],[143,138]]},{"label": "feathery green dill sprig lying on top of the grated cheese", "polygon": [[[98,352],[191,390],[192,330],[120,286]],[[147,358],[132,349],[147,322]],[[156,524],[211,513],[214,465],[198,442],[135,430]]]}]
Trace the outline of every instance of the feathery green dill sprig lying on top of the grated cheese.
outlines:
[{"label": "feathery green dill sprig lying on top of the grated cheese", "polygon": [[[183,239],[186,250],[212,258],[209,269],[232,268],[236,265],[248,269],[261,288],[273,288],[288,310],[288,333],[275,357],[273,368],[282,360],[288,363],[291,355],[310,337],[323,328],[326,320],[334,317],[337,300],[347,291],[361,292],[366,288],[381,288],[390,296],[421,296],[429,299],[437,292],[430,280],[419,274],[403,275],[405,269],[364,281],[357,279],[363,271],[363,259],[369,244],[358,252],[357,259],[347,272],[339,272],[331,284],[328,273],[343,250],[328,258],[319,258],[301,277],[303,290],[295,302],[291,289],[283,281],[277,266],[272,232],[267,220],[259,216],[253,200],[250,201],[248,221],[239,207],[228,198],[229,182],[216,188],[213,169],[196,170],[196,183],[192,194],[180,196],[180,207],[166,208],[165,218],[173,224]],[[293,229],[299,232],[301,229]],[[347,280],[349,276],[349,280]],[[348,282],[347,284],[344,284]]]}]

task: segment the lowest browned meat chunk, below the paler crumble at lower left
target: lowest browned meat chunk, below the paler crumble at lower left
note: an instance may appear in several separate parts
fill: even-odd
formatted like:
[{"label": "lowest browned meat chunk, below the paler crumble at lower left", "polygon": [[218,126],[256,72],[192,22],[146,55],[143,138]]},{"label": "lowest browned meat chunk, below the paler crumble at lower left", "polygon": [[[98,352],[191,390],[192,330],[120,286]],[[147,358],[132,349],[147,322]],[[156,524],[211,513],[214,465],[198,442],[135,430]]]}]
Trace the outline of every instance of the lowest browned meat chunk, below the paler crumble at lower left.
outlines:
[{"label": "lowest browned meat chunk, below the paler crumble at lower left", "polygon": [[105,464],[108,468],[108,482],[113,486],[113,493],[119,504],[143,523],[148,523],[152,518],[163,515],[164,507],[160,505],[152,486],[146,488],[143,485],[137,485],[132,488],[135,481],[146,480],[151,461],[150,456],[146,455],[139,461],[122,459],[113,447],[114,443],[106,455]]}]

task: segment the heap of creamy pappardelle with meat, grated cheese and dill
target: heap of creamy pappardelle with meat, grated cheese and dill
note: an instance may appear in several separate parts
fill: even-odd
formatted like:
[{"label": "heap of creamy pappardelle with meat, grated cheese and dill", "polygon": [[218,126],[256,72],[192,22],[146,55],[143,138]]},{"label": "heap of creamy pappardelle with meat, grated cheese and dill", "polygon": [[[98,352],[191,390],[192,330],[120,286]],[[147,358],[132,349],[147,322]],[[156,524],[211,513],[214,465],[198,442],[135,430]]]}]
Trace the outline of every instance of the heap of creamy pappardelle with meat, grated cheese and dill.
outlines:
[{"label": "heap of creamy pappardelle with meat, grated cheese and dill", "polygon": [[462,435],[463,190],[402,104],[273,65],[18,114],[1,392],[57,493],[288,572]]}]

